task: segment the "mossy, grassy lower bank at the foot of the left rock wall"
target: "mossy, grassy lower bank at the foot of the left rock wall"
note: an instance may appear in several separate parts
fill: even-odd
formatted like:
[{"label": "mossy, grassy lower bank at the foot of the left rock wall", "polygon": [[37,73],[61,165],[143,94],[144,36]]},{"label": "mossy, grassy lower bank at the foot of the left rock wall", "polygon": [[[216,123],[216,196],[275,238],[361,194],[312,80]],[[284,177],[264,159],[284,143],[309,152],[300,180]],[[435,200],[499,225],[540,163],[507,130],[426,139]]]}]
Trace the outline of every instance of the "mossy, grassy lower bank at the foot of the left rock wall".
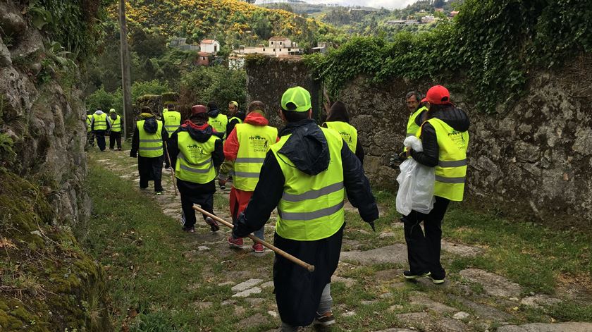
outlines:
[{"label": "mossy, grassy lower bank at the foot of the left rock wall", "polygon": [[0,170],[0,331],[112,331],[104,272],[47,199]]}]

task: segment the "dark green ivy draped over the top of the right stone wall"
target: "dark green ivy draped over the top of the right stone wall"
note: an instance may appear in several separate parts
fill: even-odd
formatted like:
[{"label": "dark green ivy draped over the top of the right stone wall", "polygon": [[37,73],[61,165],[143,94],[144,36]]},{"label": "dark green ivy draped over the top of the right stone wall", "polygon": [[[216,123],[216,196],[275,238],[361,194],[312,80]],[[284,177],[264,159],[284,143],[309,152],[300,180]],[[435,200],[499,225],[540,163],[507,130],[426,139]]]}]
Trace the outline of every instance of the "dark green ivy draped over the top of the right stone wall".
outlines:
[{"label": "dark green ivy draped over the top of the right stone wall", "polygon": [[307,63],[333,94],[357,75],[374,82],[461,76],[477,108],[491,113],[523,93],[531,69],[578,51],[592,51],[588,1],[467,0],[454,21],[434,30],[401,32],[393,42],[354,38],[327,56],[308,56]]}]

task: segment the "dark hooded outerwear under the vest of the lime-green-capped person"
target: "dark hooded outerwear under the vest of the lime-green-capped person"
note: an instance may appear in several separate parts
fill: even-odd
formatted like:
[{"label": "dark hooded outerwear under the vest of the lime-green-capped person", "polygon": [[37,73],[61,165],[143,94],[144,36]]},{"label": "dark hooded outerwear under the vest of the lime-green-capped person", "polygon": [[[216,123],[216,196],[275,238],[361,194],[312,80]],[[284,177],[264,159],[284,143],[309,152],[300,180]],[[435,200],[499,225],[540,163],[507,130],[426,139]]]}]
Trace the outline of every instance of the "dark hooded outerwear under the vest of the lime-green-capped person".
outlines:
[{"label": "dark hooded outerwear under the vest of the lime-green-capped person", "polygon": [[[280,149],[280,154],[290,159],[300,171],[314,176],[328,168],[328,142],[314,121],[290,123],[279,135],[287,134],[292,135]],[[378,219],[378,208],[362,164],[345,143],[341,149],[341,159],[347,198],[359,209],[364,221],[373,223]],[[259,183],[252,199],[244,213],[239,215],[233,235],[244,237],[264,226],[271,211],[280,202],[284,185],[285,178],[280,165],[270,151],[261,167]],[[307,326],[312,323],[323,288],[331,282],[331,275],[337,268],[344,227],[328,238],[315,241],[290,240],[276,233],[274,243],[277,247],[316,267],[314,272],[309,272],[276,255],[273,283],[276,286],[278,312],[283,322],[292,326]]]}]

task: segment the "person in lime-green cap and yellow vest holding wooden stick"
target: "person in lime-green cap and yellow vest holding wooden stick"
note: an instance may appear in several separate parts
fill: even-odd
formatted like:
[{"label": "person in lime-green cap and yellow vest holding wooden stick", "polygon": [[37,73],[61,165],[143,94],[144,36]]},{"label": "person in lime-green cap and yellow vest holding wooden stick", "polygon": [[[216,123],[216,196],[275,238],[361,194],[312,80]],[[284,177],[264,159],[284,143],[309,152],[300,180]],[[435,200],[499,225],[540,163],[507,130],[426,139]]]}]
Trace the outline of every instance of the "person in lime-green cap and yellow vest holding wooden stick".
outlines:
[{"label": "person in lime-green cap and yellow vest holding wooden stick", "polygon": [[281,331],[335,322],[330,283],[345,227],[345,192],[373,229],[378,219],[362,164],[338,133],[319,127],[311,116],[307,90],[292,87],[284,92],[280,117],[287,125],[267,152],[253,197],[233,228],[233,236],[242,238],[264,226],[277,207],[274,244],[315,266],[309,272],[276,255],[273,285]]}]

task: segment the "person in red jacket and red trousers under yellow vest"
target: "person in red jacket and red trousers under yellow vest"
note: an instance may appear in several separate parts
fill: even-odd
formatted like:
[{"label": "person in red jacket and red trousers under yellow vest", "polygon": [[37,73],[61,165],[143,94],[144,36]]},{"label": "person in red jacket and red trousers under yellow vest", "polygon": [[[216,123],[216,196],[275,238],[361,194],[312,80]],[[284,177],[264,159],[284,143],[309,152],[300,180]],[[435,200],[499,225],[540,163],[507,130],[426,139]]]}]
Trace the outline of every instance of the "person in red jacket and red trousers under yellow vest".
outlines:
[{"label": "person in red jacket and red trousers under yellow vest", "polygon": [[[238,214],[245,210],[253,191],[259,182],[259,171],[269,148],[278,141],[278,129],[271,127],[265,118],[265,104],[258,100],[249,104],[245,123],[235,126],[226,142],[224,156],[234,161],[233,187],[230,190],[230,215],[236,223]],[[264,239],[264,228],[254,232],[257,238]],[[228,238],[230,247],[242,247],[242,238]],[[253,244],[253,251],[264,252],[259,242]]]}]

